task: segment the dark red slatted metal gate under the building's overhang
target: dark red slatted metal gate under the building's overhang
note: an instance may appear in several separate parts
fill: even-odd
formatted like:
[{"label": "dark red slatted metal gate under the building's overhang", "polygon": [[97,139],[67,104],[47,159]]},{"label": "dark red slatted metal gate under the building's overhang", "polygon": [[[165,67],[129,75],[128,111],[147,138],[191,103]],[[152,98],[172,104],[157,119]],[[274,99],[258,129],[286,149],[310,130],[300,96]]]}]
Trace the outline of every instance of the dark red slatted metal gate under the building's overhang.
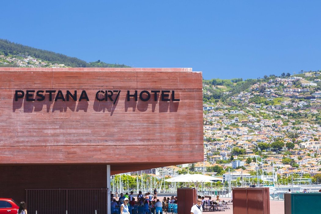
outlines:
[{"label": "dark red slatted metal gate under the building's overhang", "polygon": [[108,189],[26,189],[28,213],[107,214]]}]

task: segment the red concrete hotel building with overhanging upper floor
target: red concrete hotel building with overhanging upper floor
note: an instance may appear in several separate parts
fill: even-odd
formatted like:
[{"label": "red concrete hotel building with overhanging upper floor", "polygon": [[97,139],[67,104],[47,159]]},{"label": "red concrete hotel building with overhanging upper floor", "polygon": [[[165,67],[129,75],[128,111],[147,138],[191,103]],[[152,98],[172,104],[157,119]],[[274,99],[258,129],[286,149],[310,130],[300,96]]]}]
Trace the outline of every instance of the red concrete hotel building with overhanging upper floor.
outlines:
[{"label": "red concrete hotel building with overhanging upper floor", "polygon": [[108,188],[110,174],[203,160],[201,72],[0,68],[0,76],[0,197]]}]

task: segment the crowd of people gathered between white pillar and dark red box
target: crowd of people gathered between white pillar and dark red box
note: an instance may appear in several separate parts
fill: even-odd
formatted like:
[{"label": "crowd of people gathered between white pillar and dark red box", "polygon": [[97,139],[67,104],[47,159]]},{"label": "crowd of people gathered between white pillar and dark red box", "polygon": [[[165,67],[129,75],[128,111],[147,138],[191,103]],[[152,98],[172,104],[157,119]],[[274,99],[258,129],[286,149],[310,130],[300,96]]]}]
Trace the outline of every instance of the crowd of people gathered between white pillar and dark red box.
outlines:
[{"label": "crowd of people gathered between white pillar and dark red box", "polygon": [[152,195],[150,192],[143,194],[142,191],[139,191],[137,195],[134,195],[134,192],[131,191],[128,193],[120,193],[120,197],[118,197],[118,191],[116,190],[115,196],[111,193],[111,207],[117,208],[120,207],[120,213],[127,213],[128,206],[140,206],[143,209],[151,209],[154,207],[162,207],[163,210],[166,210],[168,204],[177,204],[177,196],[171,196],[171,198],[164,197],[162,200],[157,198],[157,190],[154,189],[154,194]]}]

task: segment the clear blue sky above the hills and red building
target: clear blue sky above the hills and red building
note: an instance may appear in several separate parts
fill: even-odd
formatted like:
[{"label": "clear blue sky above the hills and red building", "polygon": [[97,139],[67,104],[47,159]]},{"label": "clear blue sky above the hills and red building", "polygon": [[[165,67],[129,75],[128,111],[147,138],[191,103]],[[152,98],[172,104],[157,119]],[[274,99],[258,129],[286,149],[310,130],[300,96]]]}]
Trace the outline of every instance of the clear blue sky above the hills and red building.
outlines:
[{"label": "clear blue sky above the hills and red building", "polygon": [[4,1],[0,38],[204,79],[321,70],[321,1]]}]

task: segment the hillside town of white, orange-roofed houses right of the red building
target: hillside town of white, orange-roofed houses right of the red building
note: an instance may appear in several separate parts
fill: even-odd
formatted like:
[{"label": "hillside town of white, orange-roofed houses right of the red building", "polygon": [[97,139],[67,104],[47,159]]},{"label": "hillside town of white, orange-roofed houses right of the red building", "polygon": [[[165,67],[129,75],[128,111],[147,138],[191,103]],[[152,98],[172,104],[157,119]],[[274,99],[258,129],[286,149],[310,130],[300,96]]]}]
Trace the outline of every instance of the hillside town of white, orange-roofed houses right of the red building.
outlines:
[{"label": "hillside town of white, orange-roofed houses right of the red building", "polygon": [[[175,176],[182,169],[223,178],[259,178],[260,184],[321,182],[321,81],[319,72],[261,79],[224,102],[204,102],[204,162],[163,167],[154,174]],[[204,84],[204,94],[211,94]],[[229,94],[225,91],[224,94]],[[274,178],[273,178],[274,177]],[[290,178],[290,181],[289,181]],[[250,181],[251,182],[251,181]]]}]

